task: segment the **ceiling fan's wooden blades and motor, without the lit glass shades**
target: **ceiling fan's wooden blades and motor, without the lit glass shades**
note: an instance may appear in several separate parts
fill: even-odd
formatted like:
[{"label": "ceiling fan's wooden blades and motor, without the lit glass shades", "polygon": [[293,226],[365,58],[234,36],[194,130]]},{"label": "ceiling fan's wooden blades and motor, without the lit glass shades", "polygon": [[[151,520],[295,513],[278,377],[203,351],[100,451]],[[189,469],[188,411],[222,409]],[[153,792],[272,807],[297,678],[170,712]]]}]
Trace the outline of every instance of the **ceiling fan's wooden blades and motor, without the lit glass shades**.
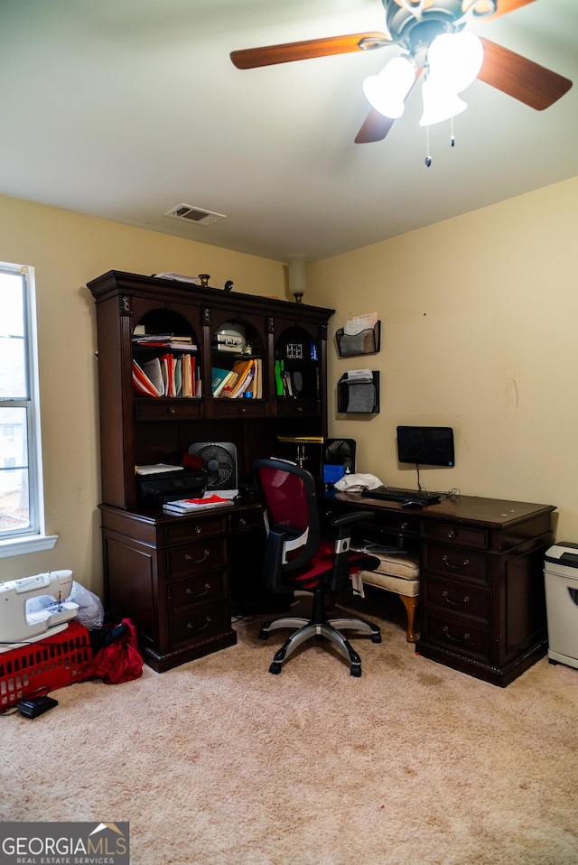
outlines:
[{"label": "ceiling fan's wooden blades and motor, without the lit glass shades", "polygon": [[[382,0],[386,10],[387,33],[352,33],[304,42],[286,42],[282,45],[232,51],[230,57],[238,69],[247,70],[396,45],[402,49],[414,70],[414,79],[406,96],[421,71],[428,70],[428,51],[436,37],[461,33],[471,21],[494,19],[534,2],[535,0]],[[527,60],[487,39],[481,39],[480,42],[483,46],[483,60],[477,76],[474,77],[529,107],[541,111],[553,105],[572,87],[572,81],[539,66],[533,60]],[[462,105],[465,107],[465,103]],[[395,117],[384,116],[377,108],[372,107],[355,138],[356,144],[382,140],[394,122]]]}]

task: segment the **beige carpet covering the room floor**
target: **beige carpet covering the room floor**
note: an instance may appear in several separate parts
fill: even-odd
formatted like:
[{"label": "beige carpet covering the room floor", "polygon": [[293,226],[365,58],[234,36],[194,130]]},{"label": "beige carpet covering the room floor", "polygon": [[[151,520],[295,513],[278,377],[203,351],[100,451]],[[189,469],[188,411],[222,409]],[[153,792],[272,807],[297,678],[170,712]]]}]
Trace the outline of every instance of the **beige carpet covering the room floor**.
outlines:
[{"label": "beige carpet covering the room floor", "polygon": [[169,673],[53,692],[0,721],[0,817],[127,820],[133,865],[575,865],[578,670],[497,688],[415,656],[393,614],[353,641],[359,679],[329,644],[269,674],[283,637],[258,619]]}]

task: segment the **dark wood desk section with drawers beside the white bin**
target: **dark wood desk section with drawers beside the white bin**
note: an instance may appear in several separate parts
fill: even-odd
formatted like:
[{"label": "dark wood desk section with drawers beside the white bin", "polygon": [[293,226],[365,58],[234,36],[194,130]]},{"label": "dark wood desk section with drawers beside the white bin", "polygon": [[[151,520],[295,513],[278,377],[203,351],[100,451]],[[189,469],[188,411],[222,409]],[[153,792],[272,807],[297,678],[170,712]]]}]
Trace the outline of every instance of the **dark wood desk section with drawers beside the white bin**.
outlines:
[{"label": "dark wood desk section with drawers beside the white bin", "polygon": [[461,496],[410,509],[354,493],[327,499],[330,511],[373,511],[366,530],[419,550],[416,653],[502,687],[545,655],[554,506]]}]

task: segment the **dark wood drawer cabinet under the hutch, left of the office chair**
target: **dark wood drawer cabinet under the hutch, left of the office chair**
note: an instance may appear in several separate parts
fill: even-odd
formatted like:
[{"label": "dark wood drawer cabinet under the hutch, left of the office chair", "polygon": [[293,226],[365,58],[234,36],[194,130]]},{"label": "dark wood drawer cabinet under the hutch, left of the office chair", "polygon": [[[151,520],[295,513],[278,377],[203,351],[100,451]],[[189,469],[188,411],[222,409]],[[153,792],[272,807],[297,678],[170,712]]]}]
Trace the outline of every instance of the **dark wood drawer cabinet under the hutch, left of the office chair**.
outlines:
[{"label": "dark wood drawer cabinet under the hutch, left of the office chair", "polygon": [[256,501],[186,516],[100,511],[107,609],[135,622],[149,666],[163,673],[237,642],[231,577],[245,581],[256,567]]}]

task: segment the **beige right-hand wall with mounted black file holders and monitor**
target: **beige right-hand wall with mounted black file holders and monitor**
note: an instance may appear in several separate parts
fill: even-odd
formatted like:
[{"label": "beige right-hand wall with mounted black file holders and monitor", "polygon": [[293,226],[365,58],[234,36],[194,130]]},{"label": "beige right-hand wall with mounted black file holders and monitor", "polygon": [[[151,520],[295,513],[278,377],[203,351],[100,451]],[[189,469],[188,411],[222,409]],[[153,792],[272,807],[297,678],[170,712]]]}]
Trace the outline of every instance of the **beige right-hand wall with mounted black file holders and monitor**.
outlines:
[{"label": "beige right-hand wall with mounted black file holders and monitor", "polygon": [[[578,541],[578,178],[309,268],[307,299],[332,306],[331,336],[378,312],[382,349],[330,350],[330,429],[358,442],[359,471],[414,488],[396,462],[399,423],[452,426],[454,469],[425,488],[558,507]],[[381,413],[337,415],[347,369],[381,373]]]}]

